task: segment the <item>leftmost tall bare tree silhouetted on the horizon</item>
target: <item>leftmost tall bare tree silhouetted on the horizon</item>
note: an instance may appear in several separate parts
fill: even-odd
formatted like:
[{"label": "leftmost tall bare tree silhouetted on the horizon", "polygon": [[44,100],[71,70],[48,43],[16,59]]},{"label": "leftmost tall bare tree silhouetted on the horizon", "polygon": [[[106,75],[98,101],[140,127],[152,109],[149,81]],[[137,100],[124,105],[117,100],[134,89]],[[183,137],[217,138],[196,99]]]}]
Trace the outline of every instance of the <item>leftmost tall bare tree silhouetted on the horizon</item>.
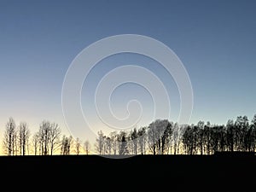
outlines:
[{"label": "leftmost tall bare tree silhouetted on the horizon", "polygon": [[9,118],[5,126],[4,137],[3,137],[3,150],[5,154],[15,154],[15,141],[16,141],[16,125],[13,118]]}]

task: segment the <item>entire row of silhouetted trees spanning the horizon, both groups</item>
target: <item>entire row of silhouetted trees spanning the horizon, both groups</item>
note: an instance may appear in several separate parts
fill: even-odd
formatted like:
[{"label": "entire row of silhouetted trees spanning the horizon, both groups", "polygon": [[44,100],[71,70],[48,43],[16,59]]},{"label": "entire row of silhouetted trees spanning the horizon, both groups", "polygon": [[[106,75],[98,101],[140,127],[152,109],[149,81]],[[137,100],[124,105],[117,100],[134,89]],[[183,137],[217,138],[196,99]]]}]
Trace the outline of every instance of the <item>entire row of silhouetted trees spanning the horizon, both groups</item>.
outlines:
[{"label": "entire row of silhouetted trees spanning the horizon, both groups", "polygon": [[[7,155],[91,154],[90,143],[62,135],[54,122],[42,121],[34,134],[26,122],[15,124],[9,118],[3,133],[3,153]],[[131,131],[98,131],[96,154],[215,154],[224,151],[255,152],[256,115],[228,120],[226,125],[199,121],[196,125],[178,125],[168,119],[156,119],[148,126]]]}]

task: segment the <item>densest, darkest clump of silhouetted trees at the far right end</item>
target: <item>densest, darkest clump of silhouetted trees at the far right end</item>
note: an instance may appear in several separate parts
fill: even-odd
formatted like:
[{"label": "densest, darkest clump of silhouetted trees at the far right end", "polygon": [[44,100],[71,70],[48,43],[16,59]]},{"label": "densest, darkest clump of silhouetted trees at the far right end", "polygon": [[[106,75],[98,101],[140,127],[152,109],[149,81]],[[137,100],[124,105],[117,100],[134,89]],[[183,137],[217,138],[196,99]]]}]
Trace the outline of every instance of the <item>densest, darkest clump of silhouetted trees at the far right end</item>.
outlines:
[{"label": "densest, darkest clump of silhouetted trees at the far right end", "polygon": [[228,120],[225,126],[209,123],[204,128],[188,126],[183,134],[183,148],[186,154],[202,154],[202,151],[205,154],[224,151],[255,152],[255,133],[255,116],[251,125],[247,116],[238,116],[235,123]]}]

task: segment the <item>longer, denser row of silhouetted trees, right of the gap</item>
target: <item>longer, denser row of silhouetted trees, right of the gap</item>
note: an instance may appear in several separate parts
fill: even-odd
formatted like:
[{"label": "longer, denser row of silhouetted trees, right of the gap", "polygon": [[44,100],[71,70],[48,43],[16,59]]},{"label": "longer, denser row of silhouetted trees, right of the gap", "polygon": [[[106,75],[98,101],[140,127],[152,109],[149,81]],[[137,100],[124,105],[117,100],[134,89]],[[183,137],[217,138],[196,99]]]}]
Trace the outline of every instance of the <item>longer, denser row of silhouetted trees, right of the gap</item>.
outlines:
[{"label": "longer, denser row of silhouetted trees, right of the gap", "polygon": [[228,120],[226,125],[178,125],[156,119],[131,131],[98,132],[97,154],[215,154],[224,151],[255,152],[256,115]]}]

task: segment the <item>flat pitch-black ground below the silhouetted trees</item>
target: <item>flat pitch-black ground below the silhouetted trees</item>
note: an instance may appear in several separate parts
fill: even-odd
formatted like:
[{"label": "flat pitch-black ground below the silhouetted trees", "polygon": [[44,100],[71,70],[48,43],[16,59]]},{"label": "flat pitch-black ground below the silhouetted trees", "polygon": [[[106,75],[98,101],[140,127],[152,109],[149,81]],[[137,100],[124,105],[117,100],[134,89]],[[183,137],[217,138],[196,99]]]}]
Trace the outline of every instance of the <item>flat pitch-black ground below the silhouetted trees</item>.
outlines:
[{"label": "flat pitch-black ground below the silhouetted trees", "polygon": [[0,191],[256,191],[256,156],[0,157]]}]

